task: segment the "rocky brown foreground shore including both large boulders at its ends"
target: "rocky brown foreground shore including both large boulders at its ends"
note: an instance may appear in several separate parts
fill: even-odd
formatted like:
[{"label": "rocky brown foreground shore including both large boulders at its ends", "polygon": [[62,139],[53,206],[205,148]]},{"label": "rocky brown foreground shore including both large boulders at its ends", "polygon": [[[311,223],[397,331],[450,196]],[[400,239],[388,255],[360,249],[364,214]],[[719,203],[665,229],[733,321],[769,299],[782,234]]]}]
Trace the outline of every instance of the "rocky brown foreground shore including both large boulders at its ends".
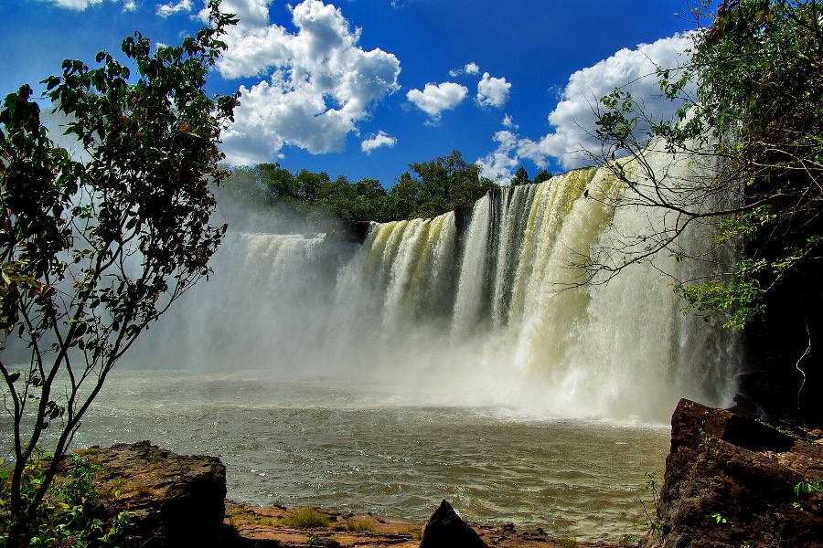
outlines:
[{"label": "rocky brown foreground shore including both large boulders at its ends", "polygon": [[775,429],[685,399],[672,416],[664,478],[659,483],[649,479],[655,503],[647,506],[649,530],[639,543],[634,537],[578,542],[540,528],[519,531],[513,523],[472,522],[471,530],[445,501],[428,521],[261,507],[227,501],[226,466],[216,457],[181,456],[148,441],[80,453],[100,465],[93,483],[102,519],[120,511],[132,518],[134,528],[123,548],[144,546],[147,539],[156,547],[428,548],[426,537],[444,522],[459,522],[476,543],[430,546],[823,548],[823,490],[798,490],[804,482],[814,487],[823,479],[823,432]]}]

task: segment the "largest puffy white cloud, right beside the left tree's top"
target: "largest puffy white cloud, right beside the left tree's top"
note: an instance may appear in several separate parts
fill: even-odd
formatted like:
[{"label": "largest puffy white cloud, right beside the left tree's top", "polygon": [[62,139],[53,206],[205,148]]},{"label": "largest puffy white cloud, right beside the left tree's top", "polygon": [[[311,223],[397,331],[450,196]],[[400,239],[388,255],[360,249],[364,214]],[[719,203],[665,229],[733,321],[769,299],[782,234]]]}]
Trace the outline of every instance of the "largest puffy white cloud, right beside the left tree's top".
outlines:
[{"label": "largest puffy white cloud, right beside the left tree's top", "polygon": [[[230,163],[268,161],[285,145],[310,153],[343,150],[369,108],[399,89],[400,61],[379,48],[358,47],[339,8],[305,0],[291,8],[296,32],[270,25],[270,0],[229,0],[240,25],[225,38],[229,50],[217,64],[227,79],[266,75],[240,86],[235,122],[223,133]],[[243,18],[245,17],[245,19]]]}]

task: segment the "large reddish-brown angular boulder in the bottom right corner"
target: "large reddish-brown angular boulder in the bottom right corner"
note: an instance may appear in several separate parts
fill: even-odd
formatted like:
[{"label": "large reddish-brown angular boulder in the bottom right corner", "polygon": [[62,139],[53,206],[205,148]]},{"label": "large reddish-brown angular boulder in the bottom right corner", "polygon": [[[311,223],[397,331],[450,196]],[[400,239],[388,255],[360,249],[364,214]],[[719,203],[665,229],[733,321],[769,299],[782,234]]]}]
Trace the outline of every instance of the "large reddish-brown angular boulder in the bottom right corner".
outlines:
[{"label": "large reddish-brown angular boulder in the bottom right corner", "polygon": [[689,400],[671,424],[659,533],[641,546],[823,547],[823,496],[794,490],[823,479],[823,446]]}]

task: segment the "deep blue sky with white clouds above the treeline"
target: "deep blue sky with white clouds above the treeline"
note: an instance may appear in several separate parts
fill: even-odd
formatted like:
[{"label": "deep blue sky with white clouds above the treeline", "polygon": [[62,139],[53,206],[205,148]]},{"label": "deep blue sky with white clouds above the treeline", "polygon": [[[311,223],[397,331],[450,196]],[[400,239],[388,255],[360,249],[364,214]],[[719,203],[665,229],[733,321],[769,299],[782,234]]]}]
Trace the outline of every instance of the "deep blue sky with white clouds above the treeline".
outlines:
[{"label": "deep blue sky with white clouds above the treeline", "polygon": [[[655,66],[689,47],[687,0],[223,0],[240,23],[208,90],[240,90],[222,150],[394,184],[453,150],[501,184],[587,163],[593,104],[617,86],[659,117]],[[0,0],[0,94],[92,64],[140,31],[179,44],[203,0]]]}]

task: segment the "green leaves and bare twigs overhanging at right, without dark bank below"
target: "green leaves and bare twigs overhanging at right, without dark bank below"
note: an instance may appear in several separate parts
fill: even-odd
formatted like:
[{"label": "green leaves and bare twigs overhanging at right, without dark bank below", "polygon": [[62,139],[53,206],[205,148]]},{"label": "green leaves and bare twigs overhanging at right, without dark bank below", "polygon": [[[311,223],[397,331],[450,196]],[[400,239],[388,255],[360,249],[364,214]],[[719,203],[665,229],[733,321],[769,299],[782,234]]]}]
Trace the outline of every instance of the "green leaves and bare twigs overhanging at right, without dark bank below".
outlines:
[{"label": "green leaves and bare twigs overhanging at right, without dark bank below", "polygon": [[[609,271],[660,251],[689,257],[677,238],[690,224],[714,223],[720,246],[744,258],[716,279],[680,280],[687,310],[721,311],[727,326],[764,312],[764,295],[797,269],[817,263],[823,203],[823,5],[818,0],[732,0],[708,20],[679,68],[660,68],[660,90],[679,104],[670,121],[652,119],[625,90],[601,100],[602,159],[630,189],[630,205],[662,208],[672,225]],[[692,180],[673,179],[647,162],[662,143],[700,165]],[[639,165],[629,177],[628,155]],[[711,169],[710,169],[711,168]],[[700,258],[700,257],[697,257]]]}]

